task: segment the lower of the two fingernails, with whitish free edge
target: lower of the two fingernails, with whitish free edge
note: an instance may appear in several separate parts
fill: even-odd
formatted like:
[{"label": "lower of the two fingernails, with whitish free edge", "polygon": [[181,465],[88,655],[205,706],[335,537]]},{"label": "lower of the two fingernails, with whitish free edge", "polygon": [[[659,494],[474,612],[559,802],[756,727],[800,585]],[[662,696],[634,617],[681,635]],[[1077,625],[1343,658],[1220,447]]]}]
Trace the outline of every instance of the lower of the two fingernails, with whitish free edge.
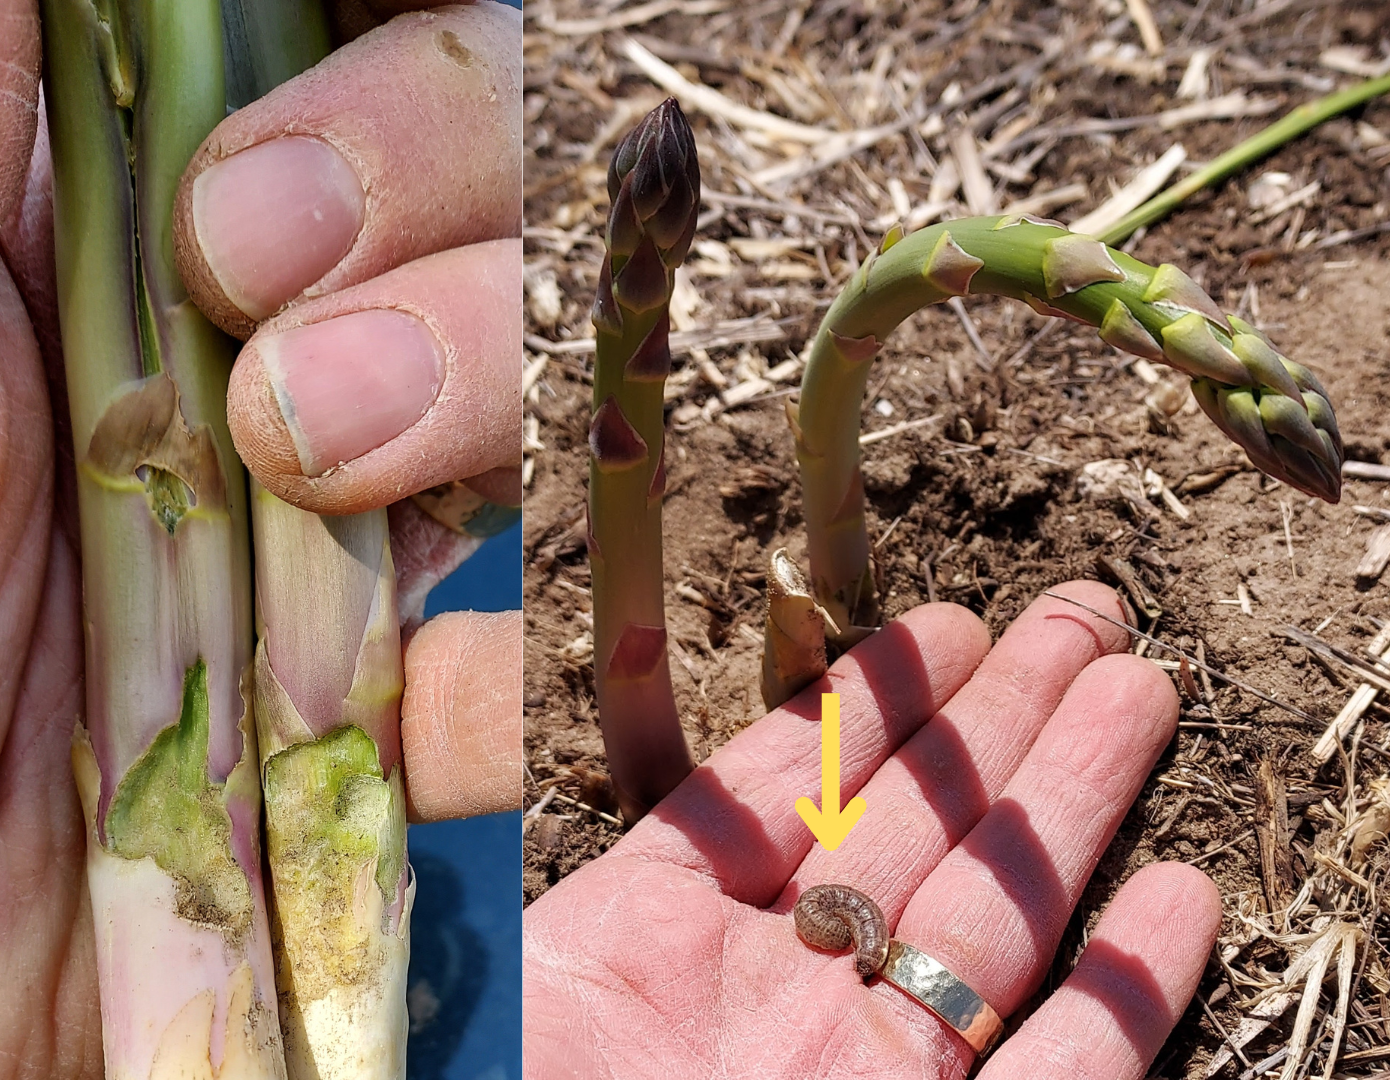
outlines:
[{"label": "lower of the two fingernails, with whitish free edge", "polygon": [[254,343],[306,477],[361,457],[420,420],[443,349],[404,311],[354,311]]}]

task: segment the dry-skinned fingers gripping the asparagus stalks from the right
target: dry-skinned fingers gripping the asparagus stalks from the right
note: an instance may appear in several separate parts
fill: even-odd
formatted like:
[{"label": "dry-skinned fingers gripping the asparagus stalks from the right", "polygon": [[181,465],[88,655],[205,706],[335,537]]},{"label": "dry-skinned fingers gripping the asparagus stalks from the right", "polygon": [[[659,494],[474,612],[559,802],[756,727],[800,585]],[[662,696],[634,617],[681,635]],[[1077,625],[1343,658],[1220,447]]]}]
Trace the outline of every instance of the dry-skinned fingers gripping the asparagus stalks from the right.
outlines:
[{"label": "dry-skinned fingers gripping the asparagus stalks from the right", "polygon": [[[421,7],[354,0],[335,17]],[[395,503],[416,621],[477,541],[398,500],[468,478],[520,503],[520,11],[409,11],[357,38],[222,121],[174,217],[190,295],[249,336],[228,389],[247,468],[306,510]],[[417,819],[520,805],[520,638],[509,612],[442,616],[410,639]]]}]

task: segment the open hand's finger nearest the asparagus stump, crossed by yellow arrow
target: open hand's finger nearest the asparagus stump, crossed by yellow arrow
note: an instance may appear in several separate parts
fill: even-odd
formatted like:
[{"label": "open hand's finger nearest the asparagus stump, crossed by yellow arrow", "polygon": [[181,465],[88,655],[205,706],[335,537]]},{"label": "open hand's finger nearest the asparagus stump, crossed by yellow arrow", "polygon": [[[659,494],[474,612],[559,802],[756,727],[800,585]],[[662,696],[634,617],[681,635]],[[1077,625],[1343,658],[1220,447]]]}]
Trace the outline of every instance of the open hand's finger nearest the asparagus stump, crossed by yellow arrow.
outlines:
[{"label": "open hand's finger nearest the asparagus stump, crossed by yellow arrow", "polygon": [[688,866],[734,899],[770,903],[813,842],[795,803],[801,795],[820,803],[820,695],[840,695],[844,806],[965,685],[988,648],[988,631],[965,607],[908,612],[730,739],[617,851]]}]

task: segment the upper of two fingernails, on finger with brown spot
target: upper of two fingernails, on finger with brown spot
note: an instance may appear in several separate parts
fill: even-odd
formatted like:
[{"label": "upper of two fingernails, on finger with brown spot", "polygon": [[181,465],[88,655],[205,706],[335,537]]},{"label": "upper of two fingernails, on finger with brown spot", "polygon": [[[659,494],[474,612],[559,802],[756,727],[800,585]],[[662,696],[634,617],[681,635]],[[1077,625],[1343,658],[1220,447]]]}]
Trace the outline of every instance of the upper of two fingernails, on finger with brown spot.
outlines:
[{"label": "upper of two fingernails, on finger with brown spot", "polygon": [[361,182],[328,143],[285,136],[193,181],[193,231],[227,299],[260,321],[332,270],[361,229]]}]

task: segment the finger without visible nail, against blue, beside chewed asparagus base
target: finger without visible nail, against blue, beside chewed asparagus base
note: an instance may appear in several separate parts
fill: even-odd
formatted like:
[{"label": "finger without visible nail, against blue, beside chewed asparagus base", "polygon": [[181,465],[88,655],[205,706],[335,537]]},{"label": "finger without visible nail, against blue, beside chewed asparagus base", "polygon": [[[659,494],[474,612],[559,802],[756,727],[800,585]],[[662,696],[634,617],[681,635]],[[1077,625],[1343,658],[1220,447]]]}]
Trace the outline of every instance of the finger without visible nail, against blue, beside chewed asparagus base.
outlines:
[{"label": "finger without visible nail, against blue, beside chewed asparagus base", "polygon": [[400,742],[413,820],[521,806],[520,612],[449,612],[420,628]]}]

